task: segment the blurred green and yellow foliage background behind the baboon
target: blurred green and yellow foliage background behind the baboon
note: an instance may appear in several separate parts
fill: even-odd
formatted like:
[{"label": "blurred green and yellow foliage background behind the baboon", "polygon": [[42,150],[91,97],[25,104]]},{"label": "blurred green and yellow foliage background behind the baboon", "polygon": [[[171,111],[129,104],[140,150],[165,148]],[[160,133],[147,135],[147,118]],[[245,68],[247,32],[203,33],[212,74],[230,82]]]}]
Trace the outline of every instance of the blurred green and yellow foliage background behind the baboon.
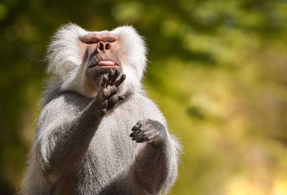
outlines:
[{"label": "blurred green and yellow foliage background behind the baboon", "polygon": [[184,146],[170,194],[287,194],[286,0],[1,0],[0,194],[18,188],[40,61],[68,22],[146,38],[146,89]]}]

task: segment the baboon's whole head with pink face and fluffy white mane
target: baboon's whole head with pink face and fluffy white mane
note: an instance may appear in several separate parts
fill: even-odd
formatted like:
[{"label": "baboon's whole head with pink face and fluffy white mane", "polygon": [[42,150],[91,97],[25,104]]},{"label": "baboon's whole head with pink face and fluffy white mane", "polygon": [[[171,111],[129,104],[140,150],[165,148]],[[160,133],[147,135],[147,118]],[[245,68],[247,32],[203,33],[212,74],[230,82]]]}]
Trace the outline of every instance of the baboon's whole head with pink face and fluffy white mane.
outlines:
[{"label": "baboon's whole head with pink face and fluffy white mane", "polygon": [[143,38],[131,26],[90,32],[68,24],[53,36],[44,61],[53,83],[58,83],[62,91],[95,97],[102,77],[110,69],[126,75],[119,95],[139,90],[146,54]]}]

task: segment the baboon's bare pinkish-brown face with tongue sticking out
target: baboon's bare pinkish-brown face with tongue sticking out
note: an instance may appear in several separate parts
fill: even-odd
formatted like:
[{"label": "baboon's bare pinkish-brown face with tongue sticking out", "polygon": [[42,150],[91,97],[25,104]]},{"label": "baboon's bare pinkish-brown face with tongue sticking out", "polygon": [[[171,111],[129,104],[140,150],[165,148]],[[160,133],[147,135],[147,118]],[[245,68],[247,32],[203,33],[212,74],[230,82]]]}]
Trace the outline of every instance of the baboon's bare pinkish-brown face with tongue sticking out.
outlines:
[{"label": "baboon's bare pinkish-brown face with tongue sticking out", "polygon": [[[102,77],[119,69],[122,75],[122,65],[119,58],[119,44],[117,35],[105,33],[89,33],[80,38],[80,49],[84,52],[83,62],[85,70],[84,87],[88,91],[97,91]],[[94,90],[93,90],[94,88]]]}]

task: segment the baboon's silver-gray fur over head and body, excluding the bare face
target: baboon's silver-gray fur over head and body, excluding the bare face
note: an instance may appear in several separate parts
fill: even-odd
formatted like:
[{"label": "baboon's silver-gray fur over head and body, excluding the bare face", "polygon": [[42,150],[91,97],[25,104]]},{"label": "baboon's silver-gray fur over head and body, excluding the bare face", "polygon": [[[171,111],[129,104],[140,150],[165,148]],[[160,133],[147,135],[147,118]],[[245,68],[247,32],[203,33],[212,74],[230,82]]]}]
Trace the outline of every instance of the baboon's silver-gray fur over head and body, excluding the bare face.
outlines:
[{"label": "baboon's silver-gray fur over head and body, excluding the bare face", "polygon": [[[104,86],[106,81],[95,81],[92,93],[85,89],[79,39],[90,33],[117,35],[121,75],[126,75],[118,90]],[[141,87],[146,47],[138,33],[130,26],[88,32],[68,24],[56,32],[45,61],[51,77],[19,194],[168,193],[181,148]],[[110,93],[125,99],[102,112]]]}]

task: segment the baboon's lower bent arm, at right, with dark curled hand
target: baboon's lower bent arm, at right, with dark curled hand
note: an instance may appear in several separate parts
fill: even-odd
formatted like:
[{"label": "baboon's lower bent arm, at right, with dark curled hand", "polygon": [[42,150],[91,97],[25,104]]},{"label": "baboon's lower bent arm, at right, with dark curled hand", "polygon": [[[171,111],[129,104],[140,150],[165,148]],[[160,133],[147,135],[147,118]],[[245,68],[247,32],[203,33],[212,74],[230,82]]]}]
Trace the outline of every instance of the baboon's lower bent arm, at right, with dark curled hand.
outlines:
[{"label": "baboon's lower bent arm, at right, with dark curled hand", "polygon": [[169,190],[177,176],[179,144],[156,120],[139,121],[132,131],[132,140],[144,143],[135,160],[139,183],[151,194]]}]

